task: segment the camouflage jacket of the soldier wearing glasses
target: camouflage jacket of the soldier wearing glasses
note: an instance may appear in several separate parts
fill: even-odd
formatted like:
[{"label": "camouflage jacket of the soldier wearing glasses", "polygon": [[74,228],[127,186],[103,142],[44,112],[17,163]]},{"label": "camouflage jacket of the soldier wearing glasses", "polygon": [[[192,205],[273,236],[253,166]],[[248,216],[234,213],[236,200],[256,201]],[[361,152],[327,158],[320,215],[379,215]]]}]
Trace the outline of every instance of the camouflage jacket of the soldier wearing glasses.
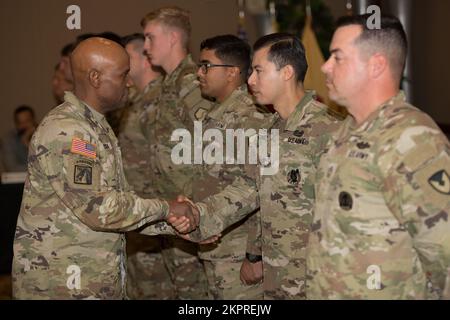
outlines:
[{"label": "camouflage jacket of the soldier wearing glasses", "polygon": [[[257,132],[259,128],[270,123],[269,118],[271,116],[272,114],[261,113],[256,108],[244,85],[233,91],[223,103],[217,104],[208,113],[203,121],[203,131],[209,129],[220,130],[224,137],[224,143],[218,147],[222,148],[225,156],[226,130],[254,129]],[[248,154],[248,148],[237,152]],[[233,156],[235,157],[235,154]],[[254,166],[256,167],[256,165]],[[243,176],[249,172],[248,169],[246,170],[246,166],[239,164],[206,164],[203,161],[201,166],[196,167],[198,170],[193,182],[194,201],[201,201],[207,196],[219,193],[227,185],[231,184],[235,177]],[[250,219],[241,220],[222,232],[222,237],[218,244],[200,246],[200,258],[210,261],[242,261],[245,258],[249,227],[257,222],[256,219],[259,219],[259,215],[252,214]],[[258,240],[256,239],[256,241]],[[258,246],[258,244],[255,244],[255,246]]]}]

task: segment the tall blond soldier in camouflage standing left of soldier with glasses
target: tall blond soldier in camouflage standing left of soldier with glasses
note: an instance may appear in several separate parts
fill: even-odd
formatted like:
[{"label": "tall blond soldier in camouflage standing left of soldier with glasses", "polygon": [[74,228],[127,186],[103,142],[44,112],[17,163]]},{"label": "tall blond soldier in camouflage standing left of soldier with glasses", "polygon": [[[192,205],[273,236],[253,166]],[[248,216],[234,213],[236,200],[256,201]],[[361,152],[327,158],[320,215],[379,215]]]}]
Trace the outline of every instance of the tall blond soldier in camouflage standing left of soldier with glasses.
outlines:
[{"label": "tall blond soldier in camouflage standing left of soldier with glasses", "polygon": [[[172,162],[171,152],[176,142],[171,141],[171,136],[176,129],[192,133],[194,121],[202,120],[212,104],[201,97],[195,75],[197,67],[188,54],[189,15],[177,7],[165,7],[147,14],[141,25],[146,37],[144,48],[151,63],[166,72],[156,107],[149,110],[145,120],[155,192],[165,198],[179,194],[191,196],[193,168],[190,164]],[[197,251],[194,243],[165,238],[164,261],[181,299],[207,296],[206,276]]]}]

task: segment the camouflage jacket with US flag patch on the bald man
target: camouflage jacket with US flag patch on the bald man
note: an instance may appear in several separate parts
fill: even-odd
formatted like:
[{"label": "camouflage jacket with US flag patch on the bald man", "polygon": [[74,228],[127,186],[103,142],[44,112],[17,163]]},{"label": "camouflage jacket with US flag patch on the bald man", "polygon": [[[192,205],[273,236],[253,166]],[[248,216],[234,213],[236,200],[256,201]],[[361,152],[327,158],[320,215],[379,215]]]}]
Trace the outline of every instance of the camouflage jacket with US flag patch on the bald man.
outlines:
[{"label": "camouflage jacket with US flag patch on the bald man", "polygon": [[117,139],[72,93],[35,132],[14,241],[18,299],[120,299],[121,233],[164,218],[168,204],[129,191]]}]

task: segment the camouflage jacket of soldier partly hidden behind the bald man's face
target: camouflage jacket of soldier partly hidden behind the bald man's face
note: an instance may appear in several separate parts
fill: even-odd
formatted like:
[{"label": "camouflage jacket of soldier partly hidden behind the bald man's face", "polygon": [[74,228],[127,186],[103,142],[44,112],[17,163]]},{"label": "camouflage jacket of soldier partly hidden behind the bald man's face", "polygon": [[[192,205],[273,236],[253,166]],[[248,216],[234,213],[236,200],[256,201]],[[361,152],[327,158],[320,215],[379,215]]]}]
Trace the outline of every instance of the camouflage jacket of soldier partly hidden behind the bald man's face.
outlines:
[{"label": "camouflage jacket of soldier partly hidden behind the bald man's face", "polygon": [[151,168],[150,143],[147,141],[145,131],[148,130],[143,118],[153,112],[154,101],[161,90],[162,77],[151,81],[144,91],[130,99],[125,107],[120,121],[118,135],[119,146],[122,151],[125,177],[133,190],[143,198],[152,198],[155,195],[155,177]]}]

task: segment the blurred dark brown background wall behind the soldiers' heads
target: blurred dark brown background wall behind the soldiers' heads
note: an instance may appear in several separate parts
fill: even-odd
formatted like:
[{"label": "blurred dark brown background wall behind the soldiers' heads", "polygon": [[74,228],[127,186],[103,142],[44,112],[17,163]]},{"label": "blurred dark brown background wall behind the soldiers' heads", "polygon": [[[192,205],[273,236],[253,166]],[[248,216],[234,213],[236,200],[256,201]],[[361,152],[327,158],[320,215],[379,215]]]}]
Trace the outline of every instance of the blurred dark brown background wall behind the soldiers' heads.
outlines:
[{"label": "blurred dark brown background wall behind the soldiers' heads", "polygon": [[[251,2],[251,0],[246,0]],[[299,2],[303,2],[297,0]],[[314,1],[314,0],[313,0]],[[377,1],[383,12],[395,1]],[[441,124],[450,125],[450,1],[406,0],[411,6],[412,101]],[[12,113],[29,104],[38,119],[55,106],[51,93],[54,66],[61,48],[77,35],[112,31],[140,32],[140,19],[152,9],[174,4],[191,11],[194,58],[204,38],[238,30],[239,0],[1,0],[0,135],[13,127]],[[283,2],[283,1],[281,1]],[[323,0],[333,19],[346,14],[347,0]],[[356,1],[353,1],[356,2]],[[66,8],[81,8],[81,30],[68,30]],[[247,12],[245,32],[251,43],[260,35]],[[300,33],[300,30],[299,30]]]}]

